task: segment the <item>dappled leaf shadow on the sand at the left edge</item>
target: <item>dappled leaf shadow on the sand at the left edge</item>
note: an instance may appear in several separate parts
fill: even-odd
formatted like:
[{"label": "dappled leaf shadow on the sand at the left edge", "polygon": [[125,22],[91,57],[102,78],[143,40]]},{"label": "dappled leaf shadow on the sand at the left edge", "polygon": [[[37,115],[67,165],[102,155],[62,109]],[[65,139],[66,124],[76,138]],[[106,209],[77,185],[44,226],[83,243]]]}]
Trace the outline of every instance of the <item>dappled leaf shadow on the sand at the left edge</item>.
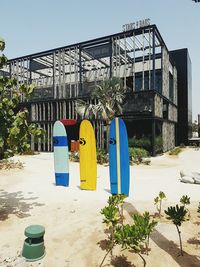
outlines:
[{"label": "dappled leaf shadow on the sand at the left edge", "polygon": [[31,202],[31,200],[34,201],[35,199],[37,197],[24,198],[22,191],[8,193],[0,190],[0,221],[7,220],[10,214],[14,214],[18,218],[30,216],[29,211],[33,206],[44,206],[44,204],[38,202]]}]

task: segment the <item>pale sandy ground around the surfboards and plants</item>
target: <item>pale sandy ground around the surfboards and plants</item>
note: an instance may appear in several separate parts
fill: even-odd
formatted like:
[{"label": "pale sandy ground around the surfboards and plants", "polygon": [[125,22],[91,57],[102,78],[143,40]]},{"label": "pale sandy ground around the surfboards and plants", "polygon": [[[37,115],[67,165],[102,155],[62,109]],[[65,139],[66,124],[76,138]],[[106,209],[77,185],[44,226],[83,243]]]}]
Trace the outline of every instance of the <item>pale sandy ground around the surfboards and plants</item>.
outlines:
[{"label": "pale sandy ground around the surfboards and plants", "polygon": [[[110,196],[108,166],[98,166],[96,191],[79,188],[79,163],[70,163],[70,186],[54,184],[53,154],[17,157],[24,169],[0,171],[0,266],[6,267],[93,267],[99,266],[105,250],[100,210]],[[200,150],[185,149],[179,156],[167,154],[152,158],[150,166],[131,167],[130,196],[125,202],[125,217],[133,212],[156,212],[153,199],[164,191],[163,207],[179,202],[182,195],[191,197],[191,219],[183,223],[184,256],[179,256],[176,228],[164,217],[151,236],[147,266],[200,266],[200,185],[181,183],[181,169],[200,172]],[[45,257],[25,262],[19,255],[25,239],[24,229],[31,224],[45,227]],[[102,242],[100,242],[102,243]],[[112,265],[143,266],[139,256],[116,248]]]}]

